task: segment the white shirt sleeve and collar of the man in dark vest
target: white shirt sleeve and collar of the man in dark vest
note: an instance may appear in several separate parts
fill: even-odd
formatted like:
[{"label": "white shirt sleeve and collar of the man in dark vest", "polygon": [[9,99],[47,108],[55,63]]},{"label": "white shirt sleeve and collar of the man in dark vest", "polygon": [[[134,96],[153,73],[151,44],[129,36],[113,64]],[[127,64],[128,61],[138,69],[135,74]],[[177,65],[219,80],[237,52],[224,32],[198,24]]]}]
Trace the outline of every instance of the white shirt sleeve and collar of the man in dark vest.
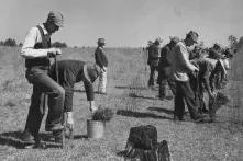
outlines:
[{"label": "white shirt sleeve and collar of the man in dark vest", "polygon": [[[40,26],[42,27],[44,35],[47,35],[48,32],[44,25],[41,24]],[[48,49],[35,49],[34,46],[36,43],[42,43],[42,35],[35,26],[27,32],[20,55],[25,59],[47,57]]]}]

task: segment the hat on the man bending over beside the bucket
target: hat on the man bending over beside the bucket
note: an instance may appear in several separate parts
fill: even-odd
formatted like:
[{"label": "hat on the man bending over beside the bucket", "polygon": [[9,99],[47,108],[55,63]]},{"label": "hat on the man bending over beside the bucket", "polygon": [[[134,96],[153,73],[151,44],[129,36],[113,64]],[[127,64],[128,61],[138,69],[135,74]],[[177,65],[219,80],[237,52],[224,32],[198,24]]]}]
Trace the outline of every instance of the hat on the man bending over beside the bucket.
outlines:
[{"label": "hat on the man bending over beside the bucket", "polygon": [[84,76],[88,82],[93,83],[95,80],[100,76],[100,73],[101,73],[101,69],[98,65],[92,64],[92,62],[85,64]]}]

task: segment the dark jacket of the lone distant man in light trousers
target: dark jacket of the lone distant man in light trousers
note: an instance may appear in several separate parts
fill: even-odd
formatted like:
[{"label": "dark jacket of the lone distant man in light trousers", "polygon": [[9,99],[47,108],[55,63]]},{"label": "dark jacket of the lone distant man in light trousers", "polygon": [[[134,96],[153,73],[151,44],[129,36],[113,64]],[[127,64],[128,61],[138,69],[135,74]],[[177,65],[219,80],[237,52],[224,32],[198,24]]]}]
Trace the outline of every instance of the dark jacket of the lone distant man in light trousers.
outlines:
[{"label": "dark jacket of the lone distant man in light trousers", "polygon": [[108,59],[104,54],[104,50],[102,47],[97,47],[95,51],[95,59],[96,64],[100,66],[100,68],[107,67],[108,66]]}]

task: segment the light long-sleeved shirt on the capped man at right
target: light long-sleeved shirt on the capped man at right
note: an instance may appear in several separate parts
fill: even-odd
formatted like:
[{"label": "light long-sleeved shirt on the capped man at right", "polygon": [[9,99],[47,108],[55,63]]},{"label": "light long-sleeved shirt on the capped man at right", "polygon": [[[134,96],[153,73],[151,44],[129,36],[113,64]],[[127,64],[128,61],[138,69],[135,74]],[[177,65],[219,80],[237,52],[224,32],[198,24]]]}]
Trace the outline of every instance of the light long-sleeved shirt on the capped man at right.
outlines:
[{"label": "light long-sleeved shirt on the capped man at right", "polygon": [[195,67],[189,61],[189,53],[185,43],[177,43],[176,46],[173,48],[172,55],[173,77],[177,81],[188,81],[189,77],[187,73],[194,72],[197,69],[197,67]]}]

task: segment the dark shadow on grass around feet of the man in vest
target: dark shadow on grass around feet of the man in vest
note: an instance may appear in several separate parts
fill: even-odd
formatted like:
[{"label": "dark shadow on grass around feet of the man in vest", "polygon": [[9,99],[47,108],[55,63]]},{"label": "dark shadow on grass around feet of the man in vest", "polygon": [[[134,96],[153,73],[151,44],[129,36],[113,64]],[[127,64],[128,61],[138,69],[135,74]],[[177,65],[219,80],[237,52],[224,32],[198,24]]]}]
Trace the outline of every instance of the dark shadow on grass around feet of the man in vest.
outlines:
[{"label": "dark shadow on grass around feet of the man in vest", "polygon": [[[16,149],[26,149],[26,145],[21,140],[22,137],[22,131],[8,131],[8,133],[2,133],[0,134],[0,145],[1,146],[10,146],[14,147]],[[52,134],[40,134],[41,140],[48,142],[46,143],[45,148],[59,148],[60,145],[55,143],[55,142],[49,142],[54,141],[54,137]],[[36,147],[40,148],[41,147]]]}]

